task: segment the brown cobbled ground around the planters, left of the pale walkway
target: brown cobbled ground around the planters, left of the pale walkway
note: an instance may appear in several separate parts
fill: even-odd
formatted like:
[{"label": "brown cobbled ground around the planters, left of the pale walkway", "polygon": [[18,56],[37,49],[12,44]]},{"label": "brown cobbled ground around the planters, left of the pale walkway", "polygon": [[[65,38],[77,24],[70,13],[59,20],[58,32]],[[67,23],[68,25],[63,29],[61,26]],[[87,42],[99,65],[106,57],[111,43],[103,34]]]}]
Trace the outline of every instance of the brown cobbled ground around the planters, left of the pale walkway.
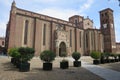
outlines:
[{"label": "brown cobbled ground around the planters, left of the pale walkway", "polygon": [[30,61],[30,71],[19,72],[19,70],[10,63],[10,58],[0,56],[0,80],[104,80],[83,67],[73,67],[72,59],[69,59],[69,69],[60,69],[59,62],[61,60],[61,58],[56,58],[53,62],[52,71],[43,71],[43,62],[38,57],[33,58]]}]

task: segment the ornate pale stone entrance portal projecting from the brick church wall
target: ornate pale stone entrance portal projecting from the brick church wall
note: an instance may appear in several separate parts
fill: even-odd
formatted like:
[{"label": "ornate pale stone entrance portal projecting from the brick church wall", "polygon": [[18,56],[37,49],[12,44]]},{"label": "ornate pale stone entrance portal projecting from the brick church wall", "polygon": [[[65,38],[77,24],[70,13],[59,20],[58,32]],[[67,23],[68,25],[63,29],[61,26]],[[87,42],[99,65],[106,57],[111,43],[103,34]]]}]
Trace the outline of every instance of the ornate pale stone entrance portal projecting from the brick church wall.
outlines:
[{"label": "ornate pale stone entrance portal projecting from the brick church wall", "polygon": [[68,31],[65,30],[65,26],[62,24],[56,25],[55,30],[55,49],[56,49],[56,55],[62,56],[62,53],[68,53],[69,48],[69,35]]}]

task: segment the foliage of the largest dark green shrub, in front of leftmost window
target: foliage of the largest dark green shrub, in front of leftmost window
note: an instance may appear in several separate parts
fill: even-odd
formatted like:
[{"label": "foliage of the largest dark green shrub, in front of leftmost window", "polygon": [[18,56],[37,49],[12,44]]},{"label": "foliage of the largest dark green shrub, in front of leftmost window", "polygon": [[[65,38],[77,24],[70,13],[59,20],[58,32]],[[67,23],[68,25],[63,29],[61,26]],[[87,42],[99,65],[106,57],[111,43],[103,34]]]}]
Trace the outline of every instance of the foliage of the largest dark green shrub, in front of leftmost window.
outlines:
[{"label": "foliage of the largest dark green shrub, in front of leftmost window", "polygon": [[29,47],[20,47],[18,52],[20,53],[21,61],[27,62],[33,58],[35,50]]}]

